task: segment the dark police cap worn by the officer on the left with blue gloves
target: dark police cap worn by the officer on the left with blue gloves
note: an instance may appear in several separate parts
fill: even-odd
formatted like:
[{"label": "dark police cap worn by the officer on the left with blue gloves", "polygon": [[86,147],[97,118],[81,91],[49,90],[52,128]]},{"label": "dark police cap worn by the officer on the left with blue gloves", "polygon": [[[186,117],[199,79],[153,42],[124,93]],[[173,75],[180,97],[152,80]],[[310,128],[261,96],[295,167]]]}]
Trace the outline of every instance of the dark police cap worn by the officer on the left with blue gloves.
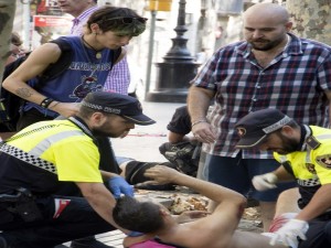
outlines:
[{"label": "dark police cap worn by the officer on the left with blue gloves", "polygon": [[156,122],[142,114],[141,104],[137,98],[117,93],[89,93],[82,105],[102,112],[119,115],[137,125],[146,126]]}]

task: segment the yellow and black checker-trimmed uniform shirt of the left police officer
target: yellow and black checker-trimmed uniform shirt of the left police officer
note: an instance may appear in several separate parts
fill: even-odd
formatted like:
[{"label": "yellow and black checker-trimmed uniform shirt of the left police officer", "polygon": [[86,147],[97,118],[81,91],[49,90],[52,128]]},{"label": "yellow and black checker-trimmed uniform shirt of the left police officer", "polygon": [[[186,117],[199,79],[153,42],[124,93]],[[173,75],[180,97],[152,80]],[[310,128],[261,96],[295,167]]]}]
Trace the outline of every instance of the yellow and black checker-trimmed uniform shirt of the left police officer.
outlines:
[{"label": "yellow and black checker-trimmed uniform shirt of the left police officer", "polygon": [[81,127],[71,120],[42,121],[1,145],[0,193],[26,187],[35,195],[78,195],[73,182],[102,183],[98,148]]}]

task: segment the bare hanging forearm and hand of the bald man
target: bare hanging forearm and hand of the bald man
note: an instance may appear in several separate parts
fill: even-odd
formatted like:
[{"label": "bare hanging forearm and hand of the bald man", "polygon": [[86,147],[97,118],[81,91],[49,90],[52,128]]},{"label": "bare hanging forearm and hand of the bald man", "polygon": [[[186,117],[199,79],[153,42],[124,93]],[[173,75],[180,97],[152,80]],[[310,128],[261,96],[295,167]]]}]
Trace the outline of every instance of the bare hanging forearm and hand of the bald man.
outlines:
[{"label": "bare hanging forearm and hand of the bald man", "polygon": [[215,93],[210,89],[191,86],[188,96],[188,109],[191,116],[192,132],[202,142],[212,143],[216,140],[216,133],[206,122],[206,114]]}]

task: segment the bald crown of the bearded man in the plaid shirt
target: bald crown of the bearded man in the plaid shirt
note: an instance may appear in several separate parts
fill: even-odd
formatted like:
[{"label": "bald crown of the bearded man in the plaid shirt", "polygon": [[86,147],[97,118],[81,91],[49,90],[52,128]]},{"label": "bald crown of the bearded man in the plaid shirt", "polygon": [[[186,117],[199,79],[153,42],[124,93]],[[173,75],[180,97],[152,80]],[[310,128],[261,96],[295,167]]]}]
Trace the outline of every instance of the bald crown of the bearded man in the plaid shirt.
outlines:
[{"label": "bald crown of the bearded man in the plaid shirt", "polygon": [[258,21],[260,23],[286,24],[289,22],[287,10],[276,3],[257,3],[244,13],[244,22]]}]

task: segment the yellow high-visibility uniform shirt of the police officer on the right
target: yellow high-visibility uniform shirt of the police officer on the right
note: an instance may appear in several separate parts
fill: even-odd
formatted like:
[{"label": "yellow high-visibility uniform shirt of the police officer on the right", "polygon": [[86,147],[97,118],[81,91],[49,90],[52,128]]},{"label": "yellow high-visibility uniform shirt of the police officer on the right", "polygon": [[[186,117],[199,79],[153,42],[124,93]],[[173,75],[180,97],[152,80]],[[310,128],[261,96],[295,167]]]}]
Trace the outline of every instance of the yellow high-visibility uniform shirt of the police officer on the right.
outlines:
[{"label": "yellow high-visibility uniform shirt of the police officer on the right", "polygon": [[299,207],[303,208],[321,185],[331,183],[331,130],[316,126],[301,126],[301,129],[306,137],[301,151],[274,155],[291,169],[302,197]]}]

